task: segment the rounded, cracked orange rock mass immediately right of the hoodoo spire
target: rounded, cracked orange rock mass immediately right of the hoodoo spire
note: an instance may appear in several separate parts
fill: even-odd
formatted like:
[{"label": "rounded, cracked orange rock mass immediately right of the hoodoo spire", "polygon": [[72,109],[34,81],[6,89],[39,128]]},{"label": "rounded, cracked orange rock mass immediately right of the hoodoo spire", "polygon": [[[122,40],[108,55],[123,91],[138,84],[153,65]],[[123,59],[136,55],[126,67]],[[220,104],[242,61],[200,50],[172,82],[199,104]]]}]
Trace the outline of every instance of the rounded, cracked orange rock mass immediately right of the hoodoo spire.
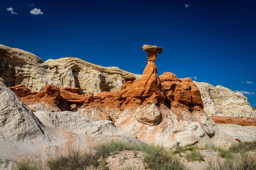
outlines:
[{"label": "rounded, cracked orange rock mass immediately right of the hoodoo spire", "polygon": [[160,81],[166,90],[168,101],[172,107],[184,107],[189,110],[203,109],[200,91],[191,78],[177,78],[173,73],[160,76]]}]

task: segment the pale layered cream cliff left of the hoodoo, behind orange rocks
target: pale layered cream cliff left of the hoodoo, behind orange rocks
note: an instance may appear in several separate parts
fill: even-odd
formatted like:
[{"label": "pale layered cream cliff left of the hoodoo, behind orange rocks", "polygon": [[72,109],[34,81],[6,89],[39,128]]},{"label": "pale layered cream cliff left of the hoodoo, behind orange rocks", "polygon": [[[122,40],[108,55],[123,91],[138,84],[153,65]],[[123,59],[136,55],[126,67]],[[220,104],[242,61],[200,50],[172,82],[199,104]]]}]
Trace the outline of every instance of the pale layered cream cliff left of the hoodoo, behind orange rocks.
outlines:
[{"label": "pale layered cream cliff left of the hoodoo, behind orange rocks", "polygon": [[0,45],[0,77],[8,87],[23,84],[38,92],[45,85],[55,85],[76,87],[83,94],[97,94],[120,90],[125,75],[140,78],[118,67],[97,66],[74,57],[44,62],[33,53]]}]

